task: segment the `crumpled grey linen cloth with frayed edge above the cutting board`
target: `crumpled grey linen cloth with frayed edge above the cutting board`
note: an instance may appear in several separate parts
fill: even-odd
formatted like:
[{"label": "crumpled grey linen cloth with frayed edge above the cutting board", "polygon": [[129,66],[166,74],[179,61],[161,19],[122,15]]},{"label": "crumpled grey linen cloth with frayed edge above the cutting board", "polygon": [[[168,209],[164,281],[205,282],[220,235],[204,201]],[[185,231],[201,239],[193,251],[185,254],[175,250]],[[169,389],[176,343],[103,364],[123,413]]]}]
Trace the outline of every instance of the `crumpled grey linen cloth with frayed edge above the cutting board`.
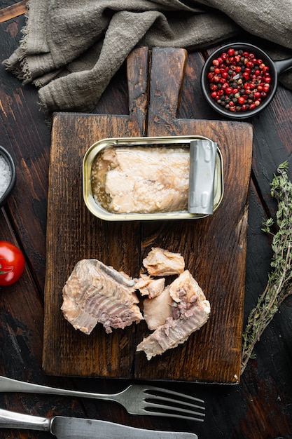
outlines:
[{"label": "crumpled grey linen cloth with frayed edge above the cutting board", "polygon": [[[91,112],[136,46],[202,49],[243,32],[292,55],[291,0],[29,0],[19,47],[4,66],[39,88],[41,106]],[[283,74],[292,88],[292,74]]]}]

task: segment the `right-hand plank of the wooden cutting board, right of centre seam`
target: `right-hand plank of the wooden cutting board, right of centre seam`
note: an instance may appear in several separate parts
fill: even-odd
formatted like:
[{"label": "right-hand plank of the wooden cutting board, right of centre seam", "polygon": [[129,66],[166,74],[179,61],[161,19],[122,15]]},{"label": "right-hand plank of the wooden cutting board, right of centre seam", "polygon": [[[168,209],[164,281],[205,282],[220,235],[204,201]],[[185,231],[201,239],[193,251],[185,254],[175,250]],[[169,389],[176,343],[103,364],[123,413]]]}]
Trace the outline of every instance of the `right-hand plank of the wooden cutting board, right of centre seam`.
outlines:
[{"label": "right-hand plank of the wooden cutting board, right of centre seam", "polygon": [[[167,379],[171,370],[175,379],[234,382],[240,370],[252,128],[248,123],[176,119],[182,85],[179,74],[174,77],[177,65],[168,50],[153,50],[148,135],[193,134],[216,141],[223,154],[225,195],[207,219],[160,227],[145,224],[143,247],[145,253],[156,245],[181,252],[213,311],[207,325],[176,353],[169,351],[151,362],[139,354],[135,372],[140,379]],[[167,76],[162,66],[173,75]]]}]

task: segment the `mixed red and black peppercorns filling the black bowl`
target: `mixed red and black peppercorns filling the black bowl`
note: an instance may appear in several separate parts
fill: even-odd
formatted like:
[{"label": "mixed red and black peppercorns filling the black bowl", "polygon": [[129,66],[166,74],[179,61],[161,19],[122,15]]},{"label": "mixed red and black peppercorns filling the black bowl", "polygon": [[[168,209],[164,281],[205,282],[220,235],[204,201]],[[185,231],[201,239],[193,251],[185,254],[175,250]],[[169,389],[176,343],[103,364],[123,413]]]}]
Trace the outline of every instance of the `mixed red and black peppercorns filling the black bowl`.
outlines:
[{"label": "mixed red and black peppercorns filling the black bowl", "polygon": [[269,93],[269,71],[253,53],[230,47],[212,60],[208,72],[211,97],[230,112],[255,109]]}]

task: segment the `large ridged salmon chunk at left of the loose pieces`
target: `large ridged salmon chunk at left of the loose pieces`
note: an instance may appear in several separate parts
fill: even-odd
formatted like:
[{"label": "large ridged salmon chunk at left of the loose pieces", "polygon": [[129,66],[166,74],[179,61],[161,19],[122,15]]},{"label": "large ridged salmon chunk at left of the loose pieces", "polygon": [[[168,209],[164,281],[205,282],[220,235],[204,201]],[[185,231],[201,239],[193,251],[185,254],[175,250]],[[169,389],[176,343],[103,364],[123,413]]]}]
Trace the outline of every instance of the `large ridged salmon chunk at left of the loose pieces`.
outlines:
[{"label": "large ridged salmon chunk at left of the loose pieces", "polygon": [[97,323],[106,332],[143,319],[134,279],[98,259],[82,259],[62,290],[62,311],[76,330],[90,334]]}]

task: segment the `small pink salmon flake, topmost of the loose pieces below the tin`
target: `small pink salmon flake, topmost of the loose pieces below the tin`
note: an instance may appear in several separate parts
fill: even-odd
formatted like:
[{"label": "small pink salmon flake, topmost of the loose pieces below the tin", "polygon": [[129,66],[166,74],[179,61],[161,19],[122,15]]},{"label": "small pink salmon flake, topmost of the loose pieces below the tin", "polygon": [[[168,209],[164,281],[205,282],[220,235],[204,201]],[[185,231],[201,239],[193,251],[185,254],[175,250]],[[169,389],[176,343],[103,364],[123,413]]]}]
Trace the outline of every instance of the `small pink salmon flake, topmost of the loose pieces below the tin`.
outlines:
[{"label": "small pink salmon flake, topmost of the loose pieces below the tin", "polygon": [[151,276],[172,276],[183,273],[185,269],[185,262],[180,253],[162,248],[152,248],[143,259],[143,265]]}]

